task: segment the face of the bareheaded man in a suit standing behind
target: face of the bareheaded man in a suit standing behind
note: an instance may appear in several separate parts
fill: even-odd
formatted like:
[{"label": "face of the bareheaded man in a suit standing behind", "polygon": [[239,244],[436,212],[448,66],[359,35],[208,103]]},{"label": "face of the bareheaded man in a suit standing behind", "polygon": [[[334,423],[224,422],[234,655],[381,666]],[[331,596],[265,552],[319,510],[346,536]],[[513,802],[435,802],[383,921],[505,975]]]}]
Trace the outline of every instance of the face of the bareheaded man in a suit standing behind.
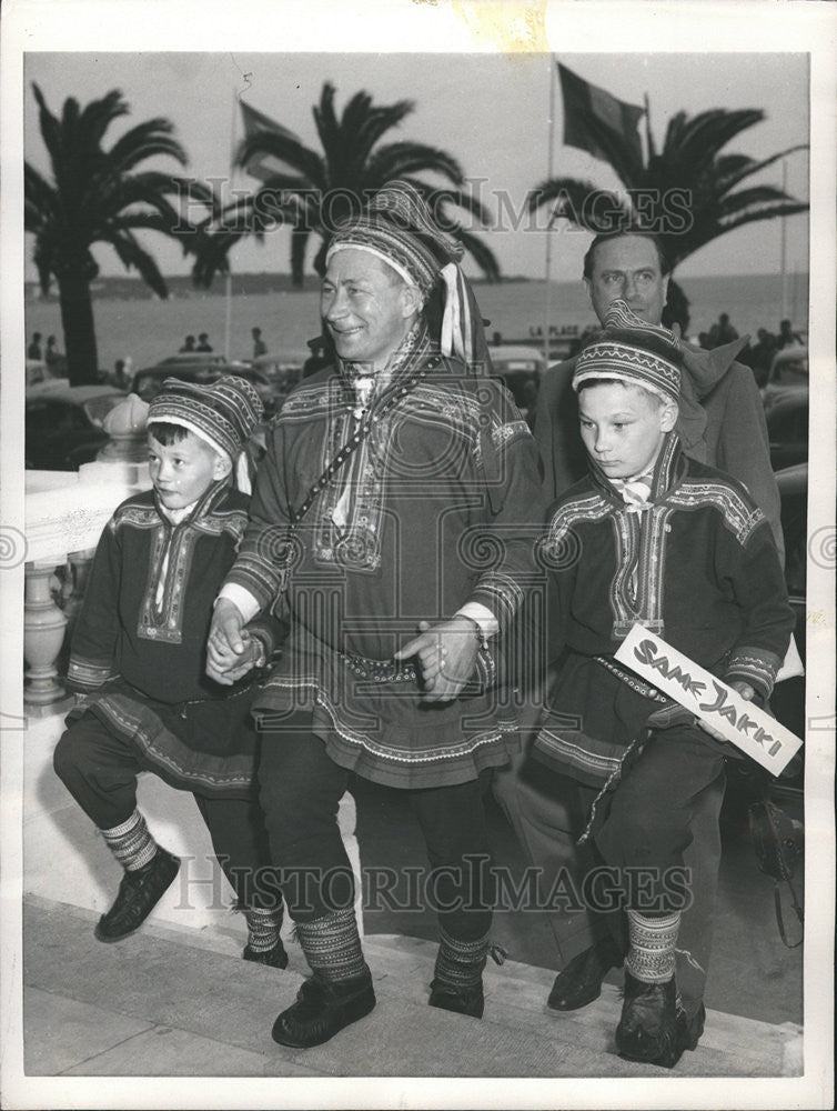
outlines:
[{"label": "face of the bareheaded man in a suit standing behind", "polygon": [[643,236],[619,236],[599,243],[593,258],[587,293],[599,321],[612,301],[627,301],[649,324],[663,319],[668,276],[659,269],[657,249]]}]

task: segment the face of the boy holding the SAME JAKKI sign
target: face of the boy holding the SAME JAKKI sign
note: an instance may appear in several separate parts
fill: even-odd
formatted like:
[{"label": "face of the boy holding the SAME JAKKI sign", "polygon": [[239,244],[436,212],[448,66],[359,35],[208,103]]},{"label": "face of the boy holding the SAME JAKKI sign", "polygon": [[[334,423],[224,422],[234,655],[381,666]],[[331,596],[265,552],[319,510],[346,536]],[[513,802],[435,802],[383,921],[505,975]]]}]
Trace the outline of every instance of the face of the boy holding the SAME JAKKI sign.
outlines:
[{"label": "face of the boy holding the SAME JAKKI sign", "polygon": [[677,407],[657,404],[638,386],[603,382],[578,394],[582,440],[608,479],[642,473],[656,458],[663,437],[677,420]]}]

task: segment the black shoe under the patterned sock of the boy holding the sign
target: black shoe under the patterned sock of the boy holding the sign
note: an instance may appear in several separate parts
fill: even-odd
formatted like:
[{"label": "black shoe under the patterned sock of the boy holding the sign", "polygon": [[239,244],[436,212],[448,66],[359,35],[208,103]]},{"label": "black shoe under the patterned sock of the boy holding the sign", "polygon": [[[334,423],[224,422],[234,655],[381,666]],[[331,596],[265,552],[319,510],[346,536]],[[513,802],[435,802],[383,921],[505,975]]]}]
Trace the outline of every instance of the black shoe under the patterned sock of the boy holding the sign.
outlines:
[{"label": "black shoe under the patterned sock of the boy holding the sign", "polygon": [[685,1045],[679,1044],[677,1037],[674,977],[665,983],[645,983],[625,970],[625,1001],[616,1028],[616,1048],[619,1057],[628,1061],[645,1061],[665,1069],[679,1061]]}]

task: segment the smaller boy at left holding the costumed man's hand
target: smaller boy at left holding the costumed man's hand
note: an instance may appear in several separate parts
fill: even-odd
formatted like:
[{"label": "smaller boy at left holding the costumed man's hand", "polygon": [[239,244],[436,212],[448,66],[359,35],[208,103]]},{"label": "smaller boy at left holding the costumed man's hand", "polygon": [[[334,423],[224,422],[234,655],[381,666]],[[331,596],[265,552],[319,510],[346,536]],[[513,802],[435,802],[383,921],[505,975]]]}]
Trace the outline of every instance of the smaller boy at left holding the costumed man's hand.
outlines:
[{"label": "smaller boy at left holding the costumed man's hand", "polygon": [[[124,869],[95,928],[100,941],[133,933],[172,883],[180,861],[157,844],[137,809],[137,777],[151,771],[192,791],[248,922],[243,957],[288,964],[282,904],[253,789],[258,687],[239,681],[270,659],[273,619],[249,625],[232,685],[205,675],[212,604],[248,520],[243,448],[262,416],[249,382],[170,378],[151,401],[153,490],[117,509],[97,549],[72,641],[69,685],[83,695],[58,742],[56,771]],[[71,722],[71,723],[70,723]],[[261,871],[260,871],[261,870]]]}]

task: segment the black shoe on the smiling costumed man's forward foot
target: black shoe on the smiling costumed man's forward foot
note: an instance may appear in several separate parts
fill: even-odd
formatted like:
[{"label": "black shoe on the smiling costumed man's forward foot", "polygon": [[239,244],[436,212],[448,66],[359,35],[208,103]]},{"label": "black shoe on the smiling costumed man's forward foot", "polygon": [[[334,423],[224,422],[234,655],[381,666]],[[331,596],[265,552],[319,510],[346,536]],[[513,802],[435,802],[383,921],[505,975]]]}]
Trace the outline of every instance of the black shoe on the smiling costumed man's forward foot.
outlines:
[{"label": "black shoe on the smiling costumed man's forward foot", "polygon": [[280,1045],[307,1049],[322,1045],[375,1005],[375,992],[369,969],[351,980],[323,980],[316,972],[305,980],[296,1002],[282,1011],[273,1023],[271,1037]]}]

